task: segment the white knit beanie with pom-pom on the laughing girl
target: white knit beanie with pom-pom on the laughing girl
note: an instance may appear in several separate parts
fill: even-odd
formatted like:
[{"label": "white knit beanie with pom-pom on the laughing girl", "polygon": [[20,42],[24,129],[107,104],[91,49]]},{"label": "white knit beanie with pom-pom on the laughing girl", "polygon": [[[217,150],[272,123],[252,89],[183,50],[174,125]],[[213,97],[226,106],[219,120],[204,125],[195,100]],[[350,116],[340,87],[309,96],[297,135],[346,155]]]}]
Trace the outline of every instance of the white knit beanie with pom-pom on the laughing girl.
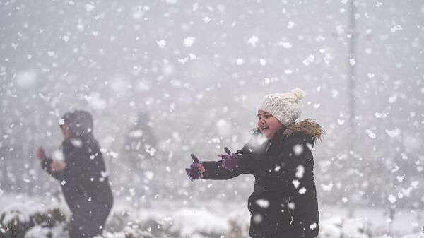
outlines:
[{"label": "white knit beanie with pom-pom on the laughing girl", "polygon": [[273,93],[266,95],[259,102],[258,110],[272,114],[284,126],[288,126],[302,114],[302,98],[305,92],[295,88],[288,93]]}]

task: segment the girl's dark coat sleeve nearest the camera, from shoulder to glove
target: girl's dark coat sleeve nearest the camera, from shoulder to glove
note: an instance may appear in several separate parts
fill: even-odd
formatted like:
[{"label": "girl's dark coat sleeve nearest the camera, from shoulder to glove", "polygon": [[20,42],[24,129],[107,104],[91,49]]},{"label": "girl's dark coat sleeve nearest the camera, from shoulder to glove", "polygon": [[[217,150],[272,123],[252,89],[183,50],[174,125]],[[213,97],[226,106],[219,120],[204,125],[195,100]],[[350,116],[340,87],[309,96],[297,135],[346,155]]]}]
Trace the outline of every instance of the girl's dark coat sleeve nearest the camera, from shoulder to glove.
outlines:
[{"label": "girl's dark coat sleeve nearest the camera, from shoulder to glove", "polygon": [[295,133],[288,136],[283,143],[281,152],[276,156],[237,155],[237,172],[253,172],[281,180],[293,177],[299,165],[313,159],[313,141],[305,133]]}]

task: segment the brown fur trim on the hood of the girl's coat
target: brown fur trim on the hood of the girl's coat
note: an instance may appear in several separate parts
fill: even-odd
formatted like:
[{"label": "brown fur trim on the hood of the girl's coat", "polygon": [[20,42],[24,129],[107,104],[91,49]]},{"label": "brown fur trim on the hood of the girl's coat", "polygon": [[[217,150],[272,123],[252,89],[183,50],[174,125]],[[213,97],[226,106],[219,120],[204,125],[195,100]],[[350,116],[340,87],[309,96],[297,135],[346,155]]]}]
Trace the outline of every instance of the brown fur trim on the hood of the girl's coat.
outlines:
[{"label": "brown fur trim on the hood of the girl's coat", "polygon": [[322,129],[322,126],[317,124],[317,122],[312,121],[312,119],[306,119],[304,121],[299,121],[288,125],[283,135],[290,136],[298,132],[302,132],[308,136],[311,136],[314,142],[320,141],[325,133],[324,129]]}]

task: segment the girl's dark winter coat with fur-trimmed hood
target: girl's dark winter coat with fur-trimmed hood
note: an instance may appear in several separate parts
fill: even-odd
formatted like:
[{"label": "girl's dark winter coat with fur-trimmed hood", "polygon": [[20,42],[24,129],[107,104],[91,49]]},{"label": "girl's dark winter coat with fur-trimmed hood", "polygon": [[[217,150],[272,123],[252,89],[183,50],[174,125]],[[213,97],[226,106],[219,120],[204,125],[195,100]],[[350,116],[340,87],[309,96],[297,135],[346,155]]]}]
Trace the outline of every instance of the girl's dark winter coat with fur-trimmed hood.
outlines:
[{"label": "girl's dark winter coat with fur-trimmed hood", "polygon": [[248,201],[252,237],[316,237],[319,212],[311,150],[322,133],[322,127],[310,119],[276,131],[272,141],[257,129],[237,151],[237,169],[228,171],[222,160],[202,162],[206,169],[203,178],[254,175],[254,191]]}]

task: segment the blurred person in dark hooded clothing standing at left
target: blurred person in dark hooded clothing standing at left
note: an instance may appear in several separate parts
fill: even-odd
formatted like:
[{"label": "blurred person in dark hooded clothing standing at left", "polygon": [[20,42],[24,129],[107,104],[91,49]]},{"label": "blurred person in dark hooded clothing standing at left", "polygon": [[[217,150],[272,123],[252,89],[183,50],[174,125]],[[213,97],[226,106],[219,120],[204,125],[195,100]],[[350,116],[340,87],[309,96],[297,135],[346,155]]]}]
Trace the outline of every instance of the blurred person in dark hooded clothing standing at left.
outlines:
[{"label": "blurred person in dark hooded clothing standing at left", "polygon": [[66,112],[60,120],[64,160],[46,157],[37,149],[42,168],[61,182],[72,212],[70,238],[102,234],[113,196],[100,145],[93,136],[93,117],[86,111]]}]

